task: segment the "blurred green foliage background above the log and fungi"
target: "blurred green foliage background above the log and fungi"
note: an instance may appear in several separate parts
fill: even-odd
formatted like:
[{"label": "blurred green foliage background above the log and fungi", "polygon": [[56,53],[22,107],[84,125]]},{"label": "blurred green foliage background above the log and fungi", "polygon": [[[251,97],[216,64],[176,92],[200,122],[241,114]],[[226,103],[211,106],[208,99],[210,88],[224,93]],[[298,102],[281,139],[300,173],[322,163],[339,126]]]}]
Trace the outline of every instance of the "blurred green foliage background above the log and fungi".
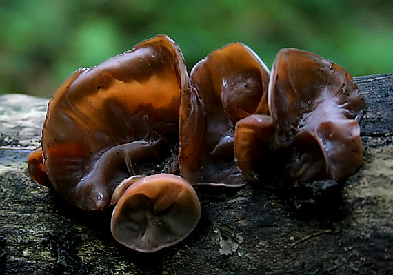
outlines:
[{"label": "blurred green foliage background above the log and fungi", "polygon": [[353,76],[393,72],[393,1],[0,1],[0,94],[52,96],[74,70],[168,34],[188,70],[233,41],[270,68],[285,47]]}]

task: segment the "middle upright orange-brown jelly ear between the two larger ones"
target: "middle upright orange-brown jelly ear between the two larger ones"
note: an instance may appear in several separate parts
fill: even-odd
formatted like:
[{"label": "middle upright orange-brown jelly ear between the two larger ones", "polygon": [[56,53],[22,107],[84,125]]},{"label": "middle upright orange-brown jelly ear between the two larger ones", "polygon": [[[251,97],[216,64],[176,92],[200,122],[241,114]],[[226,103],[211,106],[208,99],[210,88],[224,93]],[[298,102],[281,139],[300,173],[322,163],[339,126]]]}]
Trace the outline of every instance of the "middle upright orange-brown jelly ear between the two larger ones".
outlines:
[{"label": "middle upright orange-brown jelly ear between the two larger ones", "polygon": [[192,184],[239,186],[234,125],[257,109],[267,114],[269,72],[247,46],[232,43],[197,63],[181,98],[179,164]]}]

